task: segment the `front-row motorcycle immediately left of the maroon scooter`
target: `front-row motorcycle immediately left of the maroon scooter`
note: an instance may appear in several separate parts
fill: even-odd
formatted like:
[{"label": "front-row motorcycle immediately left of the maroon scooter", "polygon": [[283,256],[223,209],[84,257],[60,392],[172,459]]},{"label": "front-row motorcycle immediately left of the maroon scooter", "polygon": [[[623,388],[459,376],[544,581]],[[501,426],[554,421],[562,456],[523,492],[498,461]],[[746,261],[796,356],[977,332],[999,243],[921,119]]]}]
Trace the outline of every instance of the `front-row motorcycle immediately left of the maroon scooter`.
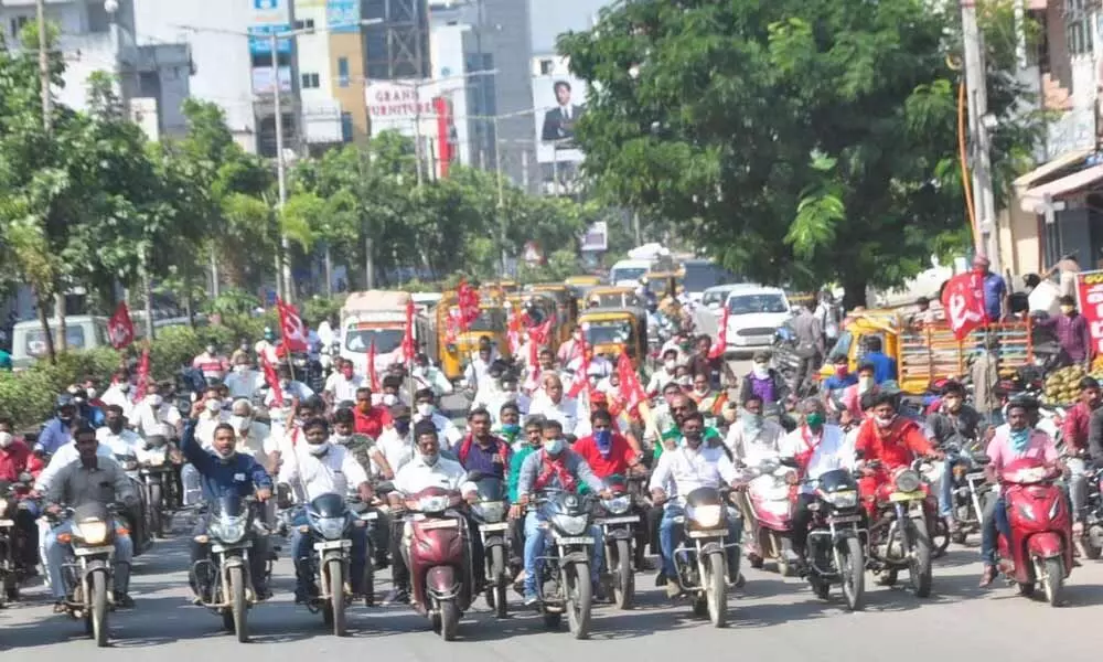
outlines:
[{"label": "front-row motorcycle immediately left of the maroon scooter", "polygon": [[[322,621],[333,627],[334,637],[345,634],[345,607],[352,601],[352,589],[349,583],[351,570],[352,541],[349,532],[353,527],[365,527],[379,515],[376,512],[354,512],[352,505],[360,503],[358,499],[350,498],[346,502],[340,494],[322,494],[306,505],[307,520],[314,540],[314,575],[318,586],[318,597],[308,605],[315,612],[322,612]],[[364,592],[374,594],[374,581],[371,575],[371,535],[368,537],[367,560],[364,564]]]}]

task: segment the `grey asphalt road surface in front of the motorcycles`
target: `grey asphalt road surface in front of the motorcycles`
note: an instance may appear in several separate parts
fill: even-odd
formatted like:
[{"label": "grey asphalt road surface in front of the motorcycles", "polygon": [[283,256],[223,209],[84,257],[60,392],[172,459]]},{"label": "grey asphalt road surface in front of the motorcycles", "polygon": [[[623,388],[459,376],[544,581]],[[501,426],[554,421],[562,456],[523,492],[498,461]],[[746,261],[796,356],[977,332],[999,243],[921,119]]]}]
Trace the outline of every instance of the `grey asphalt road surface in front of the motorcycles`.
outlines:
[{"label": "grey asphalt road surface in front of the motorcycles", "polygon": [[[995,589],[977,589],[976,549],[955,546],[936,562],[932,597],[921,600],[903,588],[876,586],[867,575],[867,608],[859,613],[842,608],[837,589],[823,602],[795,578],[746,570],[746,588],[729,602],[730,624],[717,630],[694,619],[688,606],[672,606],[653,588],[649,573],[638,580],[636,609],[597,609],[589,641],[575,641],[566,629],[546,631],[516,597],[514,615],[503,621],[479,600],[453,642],[441,641],[425,619],[398,606],[352,609],[350,636],[336,639],[319,615],[293,605],[291,564],[282,559],[274,581],[276,597],[250,612],[253,642],[239,644],[221,631],[218,617],[189,604],[185,564],[180,537],[160,543],[156,553],[138,559],[132,585],[137,608],[113,615],[109,650],[96,649],[85,639],[83,623],[51,615],[46,594],[39,587],[28,591],[26,601],[0,611],[0,652],[4,660],[19,662],[62,662],[77,655],[116,662],[146,662],[151,655],[165,662],[231,656],[261,662],[274,655],[318,659],[319,654],[370,655],[388,662],[536,662],[575,654],[644,661],[720,651],[794,662],[821,659],[825,651],[840,660],[868,660],[874,654],[893,662],[927,662],[932,654],[950,653],[959,659],[983,655],[1032,662],[1086,659],[1103,602],[1103,563],[1085,562],[1085,567],[1077,568],[1067,606],[1052,609],[1018,597],[1002,583]],[[385,590],[386,583],[381,588]]]}]

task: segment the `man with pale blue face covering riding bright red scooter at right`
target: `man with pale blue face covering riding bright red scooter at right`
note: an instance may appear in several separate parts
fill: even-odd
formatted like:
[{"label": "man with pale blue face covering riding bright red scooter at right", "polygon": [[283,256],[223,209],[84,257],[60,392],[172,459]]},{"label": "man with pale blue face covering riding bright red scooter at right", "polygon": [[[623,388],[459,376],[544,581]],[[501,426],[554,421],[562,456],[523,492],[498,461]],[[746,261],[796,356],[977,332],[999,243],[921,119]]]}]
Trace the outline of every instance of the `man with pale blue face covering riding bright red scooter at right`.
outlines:
[{"label": "man with pale blue face covering riding bright red scooter at right", "polygon": [[1011,530],[1007,520],[1007,502],[999,485],[1000,471],[1006,465],[1022,458],[1037,458],[1047,467],[1064,470],[1053,440],[1030,425],[1032,408],[1036,408],[1036,405],[1026,399],[1017,399],[1007,405],[1007,424],[996,428],[996,434],[985,450],[989,462],[985,466],[984,472],[988,482],[997,485],[999,496],[985,502],[981,530],[981,560],[984,563],[981,588],[988,586],[996,578],[998,534],[1009,536]]}]

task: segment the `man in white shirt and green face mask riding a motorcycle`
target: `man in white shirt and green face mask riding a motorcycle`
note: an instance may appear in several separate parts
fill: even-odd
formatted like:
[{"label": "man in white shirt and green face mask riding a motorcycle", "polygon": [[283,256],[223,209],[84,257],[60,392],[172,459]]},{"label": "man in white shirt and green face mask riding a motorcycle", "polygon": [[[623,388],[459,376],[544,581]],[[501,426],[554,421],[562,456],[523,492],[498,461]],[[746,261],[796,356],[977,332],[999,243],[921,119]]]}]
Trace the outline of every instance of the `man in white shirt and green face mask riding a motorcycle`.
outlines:
[{"label": "man in white shirt and green face mask riding a motorcycle", "polygon": [[[799,412],[803,421],[781,440],[781,457],[795,460],[800,477],[811,481],[835,469],[853,471],[854,448],[846,442],[840,427],[827,423],[827,407],[823,401],[807,398],[801,403]],[[808,505],[814,502],[814,482],[802,483],[793,506],[793,553],[802,566],[812,523]]]}]

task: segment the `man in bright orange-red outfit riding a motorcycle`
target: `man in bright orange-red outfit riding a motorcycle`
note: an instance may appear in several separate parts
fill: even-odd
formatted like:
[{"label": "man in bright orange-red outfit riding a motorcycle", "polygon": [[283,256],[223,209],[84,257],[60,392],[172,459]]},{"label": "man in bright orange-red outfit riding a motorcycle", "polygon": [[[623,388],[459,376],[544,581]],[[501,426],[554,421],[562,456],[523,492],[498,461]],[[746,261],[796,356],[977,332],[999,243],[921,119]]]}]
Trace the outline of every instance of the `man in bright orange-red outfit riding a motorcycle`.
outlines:
[{"label": "man in bright orange-red outfit riding a motorcycle", "polygon": [[[861,459],[863,478],[858,479],[858,493],[872,515],[877,509],[877,488],[891,479],[892,471],[907,467],[917,457],[945,458],[935,450],[914,420],[897,415],[897,396],[880,393],[874,401],[874,417],[861,421],[854,451]],[[869,463],[879,460],[879,467]]]}]

